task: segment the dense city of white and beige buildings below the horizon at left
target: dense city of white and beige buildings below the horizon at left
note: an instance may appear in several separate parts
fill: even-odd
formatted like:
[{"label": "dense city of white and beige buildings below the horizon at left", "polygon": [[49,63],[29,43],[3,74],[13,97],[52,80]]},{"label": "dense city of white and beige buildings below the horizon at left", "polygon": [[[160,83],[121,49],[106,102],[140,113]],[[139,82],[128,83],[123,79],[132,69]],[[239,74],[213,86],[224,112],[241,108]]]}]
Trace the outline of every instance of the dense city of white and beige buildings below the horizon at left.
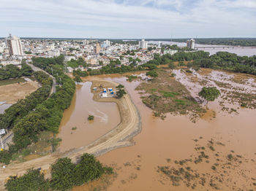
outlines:
[{"label": "dense city of white and beige buildings below the horizon at left", "polygon": [[[191,39],[188,44],[193,48],[195,41]],[[138,43],[115,42],[108,39],[20,39],[11,34],[5,39],[0,39],[0,64],[3,66],[18,65],[23,59],[30,62],[34,57],[54,58],[64,55],[69,72],[74,69],[100,69],[111,60],[119,60],[120,66],[127,66],[130,63],[141,65],[153,59],[156,53],[173,55],[176,52],[177,50],[162,51],[160,42],[148,44],[145,39]],[[86,66],[69,66],[69,61],[78,58],[83,58]]]}]

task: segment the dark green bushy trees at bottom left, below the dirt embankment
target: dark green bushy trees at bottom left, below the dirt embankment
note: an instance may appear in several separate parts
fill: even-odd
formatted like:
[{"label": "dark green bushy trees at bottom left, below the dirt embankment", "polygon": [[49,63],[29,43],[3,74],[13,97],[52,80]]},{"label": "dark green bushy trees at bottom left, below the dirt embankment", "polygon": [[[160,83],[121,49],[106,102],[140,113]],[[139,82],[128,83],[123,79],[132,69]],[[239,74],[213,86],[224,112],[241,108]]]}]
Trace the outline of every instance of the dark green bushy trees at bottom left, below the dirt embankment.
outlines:
[{"label": "dark green bushy trees at bottom left, below the dirt embankment", "polygon": [[13,177],[5,184],[9,191],[21,190],[69,190],[98,179],[102,174],[112,174],[113,168],[104,167],[94,155],[83,154],[78,163],[60,158],[51,165],[51,179],[45,179],[39,170],[30,169],[23,176]]}]

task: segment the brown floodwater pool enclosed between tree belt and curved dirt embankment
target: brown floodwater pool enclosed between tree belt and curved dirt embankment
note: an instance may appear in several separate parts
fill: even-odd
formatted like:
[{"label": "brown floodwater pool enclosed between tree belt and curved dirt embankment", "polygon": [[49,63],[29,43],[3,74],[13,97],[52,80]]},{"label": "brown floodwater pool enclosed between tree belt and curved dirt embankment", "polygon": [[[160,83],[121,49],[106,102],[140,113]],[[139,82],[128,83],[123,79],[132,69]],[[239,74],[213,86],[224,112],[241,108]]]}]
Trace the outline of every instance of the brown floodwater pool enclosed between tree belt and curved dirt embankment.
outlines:
[{"label": "brown floodwater pool enclosed between tree belt and curved dirt embankment", "polygon": [[[92,98],[91,82],[77,85],[72,103],[64,111],[61,120],[61,152],[90,144],[120,122],[118,106],[115,103],[99,103]],[[94,121],[87,120],[89,114],[94,115]]]}]

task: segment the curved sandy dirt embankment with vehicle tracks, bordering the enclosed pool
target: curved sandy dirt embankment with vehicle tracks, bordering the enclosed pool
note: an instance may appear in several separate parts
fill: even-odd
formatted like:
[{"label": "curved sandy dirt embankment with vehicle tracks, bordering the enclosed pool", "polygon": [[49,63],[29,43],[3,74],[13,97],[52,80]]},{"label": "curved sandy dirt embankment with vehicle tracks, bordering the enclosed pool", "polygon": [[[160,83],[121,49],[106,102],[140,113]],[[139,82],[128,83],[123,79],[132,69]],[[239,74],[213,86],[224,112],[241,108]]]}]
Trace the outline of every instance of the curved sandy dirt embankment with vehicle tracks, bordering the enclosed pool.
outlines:
[{"label": "curved sandy dirt embankment with vehicle tracks, bordering the enclosed pool", "polygon": [[[97,78],[94,78],[90,81],[93,82],[92,87],[99,83],[105,86],[111,85],[113,87],[116,87],[116,85],[118,85],[118,83],[116,82],[110,82]],[[50,164],[54,163],[59,157],[70,157],[73,161],[75,161],[80,155],[83,155],[83,153],[85,152],[94,155],[102,155],[112,149],[116,149],[118,147],[126,147],[134,144],[131,138],[136,134],[140,133],[141,123],[138,109],[135,107],[135,104],[132,103],[129,95],[124,95],[124,97],[121,99],[99,98],[99,95],[94,95],[94,100],[115,102],[118,105],[121,122],[116,126],[116,128],[113,128],[113,130],[110,130],[108,133],[97,139],[97,141],[94,141],[87,146],[72,149],[64,153],[56,152],[52,155],[29,160],[24,163],[7,165],[7,168],[0,168],[0,189],[4,188],[4,180],[7,179],[8,176],[24,174],[29,168],[41,167],[42,169],[48,169],[50,168]],[[49,175],[50,174],[48,171],[47,176]]]}]

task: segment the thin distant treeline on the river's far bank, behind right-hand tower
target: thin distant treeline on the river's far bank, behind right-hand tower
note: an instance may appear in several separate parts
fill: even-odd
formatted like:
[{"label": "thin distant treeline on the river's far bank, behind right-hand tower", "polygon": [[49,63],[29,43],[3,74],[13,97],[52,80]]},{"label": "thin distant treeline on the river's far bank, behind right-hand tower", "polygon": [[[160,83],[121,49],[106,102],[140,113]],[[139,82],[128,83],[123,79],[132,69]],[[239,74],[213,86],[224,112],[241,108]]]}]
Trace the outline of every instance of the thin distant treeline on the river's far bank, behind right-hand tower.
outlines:
[{"label": "thin distant treeline on the river's far bank, behind right-hand tower", "polygon": [[[187,42],[187,39],[173,39],[173,42]],[[211,44],[211,45],[230,45],[230,46],[256,46],[256,38],[195,39],[195,43]]]}]

